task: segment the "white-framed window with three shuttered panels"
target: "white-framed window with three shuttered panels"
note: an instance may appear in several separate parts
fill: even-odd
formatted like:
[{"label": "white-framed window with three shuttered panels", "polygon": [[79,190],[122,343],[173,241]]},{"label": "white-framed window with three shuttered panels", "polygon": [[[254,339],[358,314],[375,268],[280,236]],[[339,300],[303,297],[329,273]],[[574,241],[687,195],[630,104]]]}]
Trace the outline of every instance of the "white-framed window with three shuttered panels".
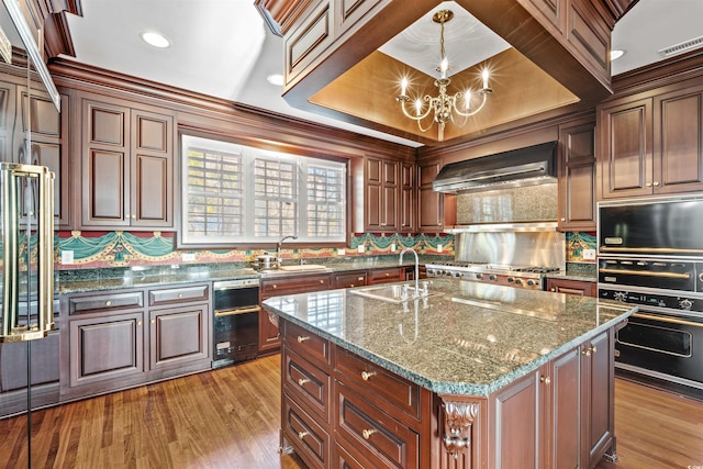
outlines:
[{"label": "white-framed window with three shuttered panels", "polygon": [[346,241],[346,164],[182,136],[182,245]]}]

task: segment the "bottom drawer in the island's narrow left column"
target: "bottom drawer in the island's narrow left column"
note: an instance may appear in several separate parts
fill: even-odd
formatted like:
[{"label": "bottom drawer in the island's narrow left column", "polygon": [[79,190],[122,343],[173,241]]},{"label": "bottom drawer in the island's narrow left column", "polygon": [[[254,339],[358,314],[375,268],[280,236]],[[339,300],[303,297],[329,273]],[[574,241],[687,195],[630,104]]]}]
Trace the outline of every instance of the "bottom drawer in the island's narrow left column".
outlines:
[{"label": "bottom drawer in the island's narrow left column", "polygon": [[330,434],[314,418],[283,394],[283,433],[308,466],[326,468],[330,464]]}]

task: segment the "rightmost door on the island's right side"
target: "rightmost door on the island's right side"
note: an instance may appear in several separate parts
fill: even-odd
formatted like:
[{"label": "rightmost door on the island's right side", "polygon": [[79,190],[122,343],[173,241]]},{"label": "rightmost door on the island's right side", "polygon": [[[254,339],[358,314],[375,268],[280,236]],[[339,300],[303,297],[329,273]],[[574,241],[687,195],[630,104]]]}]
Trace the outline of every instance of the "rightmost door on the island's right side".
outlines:
[{"label": "rightmost door on the island's right side", "polygon": [[583,370],[583,461],[593,467],[605,453],[613,451],[615,428],[615,379],[613,332],[605,331],[582,345]]}]

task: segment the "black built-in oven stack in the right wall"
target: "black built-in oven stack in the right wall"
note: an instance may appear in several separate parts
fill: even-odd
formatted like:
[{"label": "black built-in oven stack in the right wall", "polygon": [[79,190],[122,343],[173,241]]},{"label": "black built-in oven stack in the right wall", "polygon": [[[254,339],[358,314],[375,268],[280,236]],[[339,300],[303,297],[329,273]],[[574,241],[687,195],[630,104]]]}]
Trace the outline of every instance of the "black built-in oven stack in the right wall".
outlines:
[{"label": "black built-in oven stack in the right wall", "polygon": [[703,197],[599,203],[599,297],[639,305],[615,366],[703,390]]}]

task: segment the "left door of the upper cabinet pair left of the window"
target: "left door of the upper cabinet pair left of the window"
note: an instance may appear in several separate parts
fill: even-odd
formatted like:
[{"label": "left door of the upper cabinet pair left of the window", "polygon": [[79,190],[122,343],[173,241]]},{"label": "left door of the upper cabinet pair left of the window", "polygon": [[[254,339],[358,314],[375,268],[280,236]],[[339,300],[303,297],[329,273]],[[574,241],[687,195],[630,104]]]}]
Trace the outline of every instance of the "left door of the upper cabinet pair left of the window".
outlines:
[{"label": "left door of the upper cabinet pair left of the window", "polygon": [[130,110],[97,101],[82,102],[81,227],[130,224]]}]

